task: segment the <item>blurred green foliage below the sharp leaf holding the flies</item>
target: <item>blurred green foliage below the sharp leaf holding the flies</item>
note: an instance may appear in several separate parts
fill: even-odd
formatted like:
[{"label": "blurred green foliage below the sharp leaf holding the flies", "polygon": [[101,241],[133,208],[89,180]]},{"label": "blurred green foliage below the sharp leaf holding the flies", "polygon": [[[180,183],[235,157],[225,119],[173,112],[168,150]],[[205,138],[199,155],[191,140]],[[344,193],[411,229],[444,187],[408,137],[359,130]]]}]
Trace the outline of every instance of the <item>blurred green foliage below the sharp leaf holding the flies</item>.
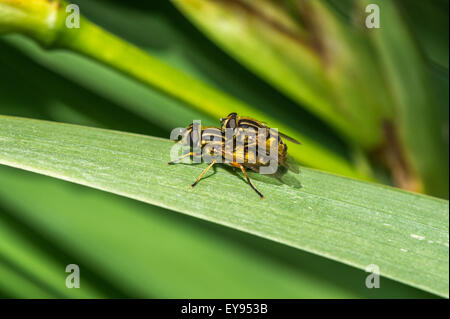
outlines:
[{"label": "blurred green foliage below the sharp leaf holding the flies", "polygon": [[[37,191],[38,190],[38,191]],[[26,199],[23,200],[23,194]],[[82,289],[65,278],[0,257],[0,296],[21,298],[429,298],[363,271],[163,208],[0,165],[0,228],[23,255],[81,269]],[[98,227],[98,225],[101,227]],[[28,246],[20,245],[29,241]],[[36,251],[41,251],[36,256]],[[2,255],[0,253],[0,255]],[[180,264],[182,260],[182,265]],[[3,262],[4,261],[4,262]],[[332,269],[332,271],[330,271]],[[264,278],[264,280],[261,280]],[[85,289],[86,288],[86,289]]]}]

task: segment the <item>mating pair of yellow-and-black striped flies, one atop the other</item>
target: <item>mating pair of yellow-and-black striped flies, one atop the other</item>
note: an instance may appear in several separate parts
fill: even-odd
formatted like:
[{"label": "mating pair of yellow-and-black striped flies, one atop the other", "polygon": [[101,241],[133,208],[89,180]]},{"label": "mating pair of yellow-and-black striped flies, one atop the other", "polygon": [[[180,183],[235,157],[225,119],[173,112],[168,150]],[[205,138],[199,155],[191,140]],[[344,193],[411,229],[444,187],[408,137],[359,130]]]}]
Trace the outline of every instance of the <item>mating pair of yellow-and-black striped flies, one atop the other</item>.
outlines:
[{"label": "mating pair of yellow-and-black striped flies, one atop the other", "polygon": [[[282,166],[286,169],[293,171],[294,173],[298,173],[298,165],[294,159],[288,156],[287,154],[287,145],[284,143],[283,139],[286,139],[295,144],[300,144],[295,139],[279,133],[277,130],[271,129],[263,122],[257,121],[255,119],[238,116],[237,113],[230,113],[226,118],[221,118],[221,128],[216,128],[212,126],[202,127],[200,129],[200,136],[195,134],[194,125],[191,124],[186,128],[186,131],[182,135],[181,140],[179,141],[181,144],[185,146],[191,146],[193,143],[198,143],[203,151],[206,147],[208,147],[208,151],[211,152],[211,155],[214,154],[215,149],[220,149],[222,158],[231,158],[231,161],[226,161],[225,164],[240,168],[245,178],[247,179],[249,185],[253,190],[262,198],[264,196],[253,186],[250,178],[248,177],[247,169],[258,172],[261,167],[268,166],[271,160],[275,160],[277,162],[277,168],[274,175],[276,177],[281,176],[280,171],[278,170],[279,166]],[[231,150],[225,146],[226,143],[226,130],[231,129],[233,131],[233,147]],[[251,130],[252,132],[264,132],[265,135],[265,148],[263,152],[260,149],[256,149],[252,146],[256,146],[258,143],[257,134],[249,137],[247,132]],[[245,135],[245,136],[241,136]],[[236,140],[242,137],[244,141],[243,144],[237,145]],[[253,137],[253,138],[252,138]],[[283,138],[283,139],[282,139]],[[217,147],[216,147],[217,146]],[[275,149],[275,154],[272,154],[268,150]],[[183,158],[188,156],[198,156],[200,154],[196,154],[191,151],[180,158],[169,162],[168,164],[175,164],[181,161]],[[217,161],[213,159],[209,166],[200,174],[194,184],[191,187],[195,187],[197,183],[202,179],[205,173],[216,164]]]}]

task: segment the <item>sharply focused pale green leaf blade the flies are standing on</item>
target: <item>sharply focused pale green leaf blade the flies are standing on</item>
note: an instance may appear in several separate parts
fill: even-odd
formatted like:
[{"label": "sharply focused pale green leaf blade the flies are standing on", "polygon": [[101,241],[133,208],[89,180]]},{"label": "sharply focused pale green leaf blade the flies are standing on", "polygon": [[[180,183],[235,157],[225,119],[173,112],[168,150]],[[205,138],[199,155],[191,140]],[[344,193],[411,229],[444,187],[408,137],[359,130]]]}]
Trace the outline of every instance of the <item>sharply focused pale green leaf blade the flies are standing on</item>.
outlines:
[{"label": "sharply focused pale green leaf blade the flies are standing on", "polygon": [[[448,297],[448,201],[311,169],[294,183],[205,165],[167,166],[173,142],[136,134],[0,117],[0,163],[255,234]],[[293,147],[292,147],[293,148]],[[241,178],[240,178],[241,177]]]}]

